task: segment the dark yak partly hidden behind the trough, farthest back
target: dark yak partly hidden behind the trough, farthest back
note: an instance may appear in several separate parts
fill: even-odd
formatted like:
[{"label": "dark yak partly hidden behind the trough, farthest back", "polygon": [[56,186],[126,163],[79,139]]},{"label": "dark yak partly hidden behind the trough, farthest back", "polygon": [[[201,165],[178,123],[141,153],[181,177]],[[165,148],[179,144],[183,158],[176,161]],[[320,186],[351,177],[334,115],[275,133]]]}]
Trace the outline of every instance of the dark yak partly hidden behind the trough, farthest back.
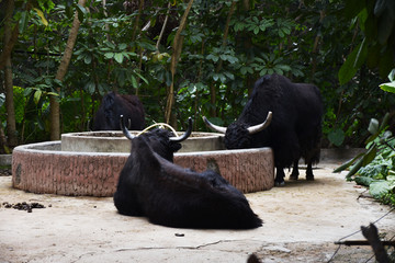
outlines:
[{"label": "dark yak partly hidden behind the trough, farthest back", "polygon": [[94,115],[93,130],[120,130],[120,115],[123,115],[129,129],[145,128],[145,113],[142,102],[135,95],[108,93]]}]

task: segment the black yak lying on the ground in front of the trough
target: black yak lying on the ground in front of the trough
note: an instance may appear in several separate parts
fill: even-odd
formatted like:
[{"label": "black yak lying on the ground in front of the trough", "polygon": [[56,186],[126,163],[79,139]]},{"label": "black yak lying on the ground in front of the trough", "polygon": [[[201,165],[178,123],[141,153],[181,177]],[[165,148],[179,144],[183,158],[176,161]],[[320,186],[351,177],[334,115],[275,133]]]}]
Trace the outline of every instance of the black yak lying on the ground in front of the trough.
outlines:
[{"label": "black yak lying on the ground in front of the trough", "polygon": [[176,148],[158,144],[163,137],[127,137],[132,152],[114,194],[120,214],[177,228],[251,229],[262,225],[242,193],[219,174],[198,173],[172,163],[168,157]]}]

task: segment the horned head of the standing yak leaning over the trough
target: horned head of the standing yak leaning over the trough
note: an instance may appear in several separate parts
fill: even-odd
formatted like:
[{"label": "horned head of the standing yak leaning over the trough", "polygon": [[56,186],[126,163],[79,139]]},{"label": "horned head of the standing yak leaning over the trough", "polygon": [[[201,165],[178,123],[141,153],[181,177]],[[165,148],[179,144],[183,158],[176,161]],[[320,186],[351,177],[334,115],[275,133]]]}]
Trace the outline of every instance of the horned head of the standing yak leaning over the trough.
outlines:
[{"label": "horned head of the standing yak leaning over the trough", "polygon": [[227,149],[244,149],[253,147],[252,135],[266,129],[272,119],[272,113],[269,112],[267,119],[258,125],[249,126],[245,123],[235,122],[228,127],[221,127],[208,122],[206,117],[203,119],[207,127],[215,132],[225,134],[224,144]]}]

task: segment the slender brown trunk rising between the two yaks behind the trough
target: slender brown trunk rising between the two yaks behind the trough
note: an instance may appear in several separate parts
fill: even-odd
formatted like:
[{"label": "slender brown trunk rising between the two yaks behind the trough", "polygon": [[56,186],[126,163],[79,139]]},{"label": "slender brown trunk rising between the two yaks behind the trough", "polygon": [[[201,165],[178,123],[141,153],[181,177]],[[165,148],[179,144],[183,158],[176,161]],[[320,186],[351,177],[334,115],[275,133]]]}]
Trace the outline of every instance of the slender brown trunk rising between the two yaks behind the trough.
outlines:
[{"label": "slender brown trunk rising between the two yaks behind the trough", "polygon": [[185,12],[183,13],[183,15],[181,18],[180,26],[177,30],[174,41],[173,41],[173,46],[172,46],[173,54],[171,55],[171,65],[170,65],[171,84],[167,92],[168,98],[167,98],[166,110],[165,110],[166,123],[170,122],[171,108],[174,104],[174,75],[176,75],[176,68],[177,68],[177,64],[178,64],[178,60],[181,55],[182,44],[183,44],[183,36],[181,36],[181,32],[185,28],[188,13],[192,8],[192,3],[193,3],[193,0],[190,0],[188,3],[188,7],[185,9]]}]

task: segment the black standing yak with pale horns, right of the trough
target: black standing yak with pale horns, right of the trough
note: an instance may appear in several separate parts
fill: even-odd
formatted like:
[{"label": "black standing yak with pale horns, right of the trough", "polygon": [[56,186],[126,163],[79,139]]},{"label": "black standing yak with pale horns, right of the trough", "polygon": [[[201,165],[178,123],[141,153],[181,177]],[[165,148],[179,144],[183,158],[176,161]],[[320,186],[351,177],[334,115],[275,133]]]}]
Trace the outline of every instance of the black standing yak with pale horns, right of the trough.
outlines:
[{"label": "black standing yak with pale horns, right of the trough", "polygon": [[[272,112],[271,124],[262,125]],[[250,99],[241,115],[227,128],[211,124],[208,127],[225,134],[228,149],[271,147],[276,169],[275,184],[284,184],[283,168],[293,171],[297,180],[297,163],[304,158],[307,163],[306,179],[314,180],[314,163],[319,161],[323,101],[317,87],[292,83],[279,75],[264,76],[255,83]],[[267,127],[268,126],[268,127]]]}]

